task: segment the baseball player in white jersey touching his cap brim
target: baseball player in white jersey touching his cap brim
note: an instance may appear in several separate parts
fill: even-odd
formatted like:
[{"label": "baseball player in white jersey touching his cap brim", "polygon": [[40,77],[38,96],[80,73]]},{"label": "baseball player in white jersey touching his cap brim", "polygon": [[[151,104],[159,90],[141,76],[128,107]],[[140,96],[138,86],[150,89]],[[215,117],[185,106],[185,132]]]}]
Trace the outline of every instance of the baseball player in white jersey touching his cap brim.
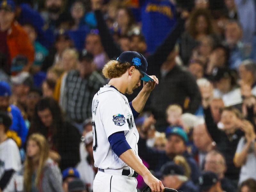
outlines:
[{"label": "baseball player in white jersey touching his cap brim", "polygon": [[[92,101],[93,157],[99,169],[93,192],[136,192],[138,174],[152,191],[164,190],[162,182],[148,171],[138,155],[139,133],[134,118],[158,84],[156,76],[146,74],[147,66],[140,53],[127,51],[108,61],[102,70],[110,81]],[[129,103],[124,94],[132,94],[140,80],[144,81],[143,88]]]}]

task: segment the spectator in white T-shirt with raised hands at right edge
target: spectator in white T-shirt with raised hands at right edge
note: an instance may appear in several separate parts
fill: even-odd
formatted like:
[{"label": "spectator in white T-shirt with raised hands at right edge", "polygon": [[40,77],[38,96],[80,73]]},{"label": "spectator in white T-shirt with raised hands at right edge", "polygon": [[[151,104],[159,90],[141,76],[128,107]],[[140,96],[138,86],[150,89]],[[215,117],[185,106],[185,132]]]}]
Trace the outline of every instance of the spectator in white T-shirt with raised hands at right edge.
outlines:
[{"label": "spectator in white T-shirt with raised hands at right edge", "polygon": [[245,136],[239,140],[236,154],[234,157],[234,164],[236,167],[241,167],[239,184],[243,181],[253,178],[256,179],[253,164],[256,162],[256,134],[253,125],[249,121],[244,121],[241,125]]}]

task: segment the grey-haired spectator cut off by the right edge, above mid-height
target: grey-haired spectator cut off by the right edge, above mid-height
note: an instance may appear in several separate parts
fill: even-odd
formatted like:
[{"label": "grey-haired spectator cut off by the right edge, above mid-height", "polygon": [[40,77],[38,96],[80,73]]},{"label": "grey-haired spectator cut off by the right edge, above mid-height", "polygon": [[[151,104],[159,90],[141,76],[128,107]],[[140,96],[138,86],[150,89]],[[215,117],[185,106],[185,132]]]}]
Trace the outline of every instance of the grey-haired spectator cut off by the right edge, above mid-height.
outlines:
[{"label": "grey-haired spectator cut off by the right edge, above mid-height", "polygon": [[256,96],[256,62],[253,60],[245,60],[239,66],[239,76],[241,83],[249,85],[252,94]]}]

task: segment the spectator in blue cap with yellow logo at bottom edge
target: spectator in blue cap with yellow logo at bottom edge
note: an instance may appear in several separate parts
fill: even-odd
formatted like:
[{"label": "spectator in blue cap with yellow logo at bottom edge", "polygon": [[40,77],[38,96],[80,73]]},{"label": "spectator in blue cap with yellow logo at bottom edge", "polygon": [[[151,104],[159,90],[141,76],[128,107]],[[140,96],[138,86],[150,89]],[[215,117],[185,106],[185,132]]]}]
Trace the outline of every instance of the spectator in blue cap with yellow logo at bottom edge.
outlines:
[{"label": "spectator in blue cap with yellow logo at bottom edge", "polygon": [[64,192],[68,192],[68,183],[76,178],[80,178],[76,168],[69,167],[62,172],[62,188]]}]

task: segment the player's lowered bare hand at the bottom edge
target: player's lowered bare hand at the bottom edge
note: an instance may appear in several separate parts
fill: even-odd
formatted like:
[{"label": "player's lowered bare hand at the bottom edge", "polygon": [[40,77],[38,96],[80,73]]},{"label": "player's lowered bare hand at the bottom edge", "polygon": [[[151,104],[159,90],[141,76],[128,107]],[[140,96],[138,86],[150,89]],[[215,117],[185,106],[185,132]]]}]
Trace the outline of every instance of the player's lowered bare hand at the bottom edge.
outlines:
[{"label": "player's lowered bare hand at the bottom edge", "polygon": [[143,177],[144,182],[151,188],[152,192],[163,192],[164,185],[162,181],[156,179],[150,172]]}]

